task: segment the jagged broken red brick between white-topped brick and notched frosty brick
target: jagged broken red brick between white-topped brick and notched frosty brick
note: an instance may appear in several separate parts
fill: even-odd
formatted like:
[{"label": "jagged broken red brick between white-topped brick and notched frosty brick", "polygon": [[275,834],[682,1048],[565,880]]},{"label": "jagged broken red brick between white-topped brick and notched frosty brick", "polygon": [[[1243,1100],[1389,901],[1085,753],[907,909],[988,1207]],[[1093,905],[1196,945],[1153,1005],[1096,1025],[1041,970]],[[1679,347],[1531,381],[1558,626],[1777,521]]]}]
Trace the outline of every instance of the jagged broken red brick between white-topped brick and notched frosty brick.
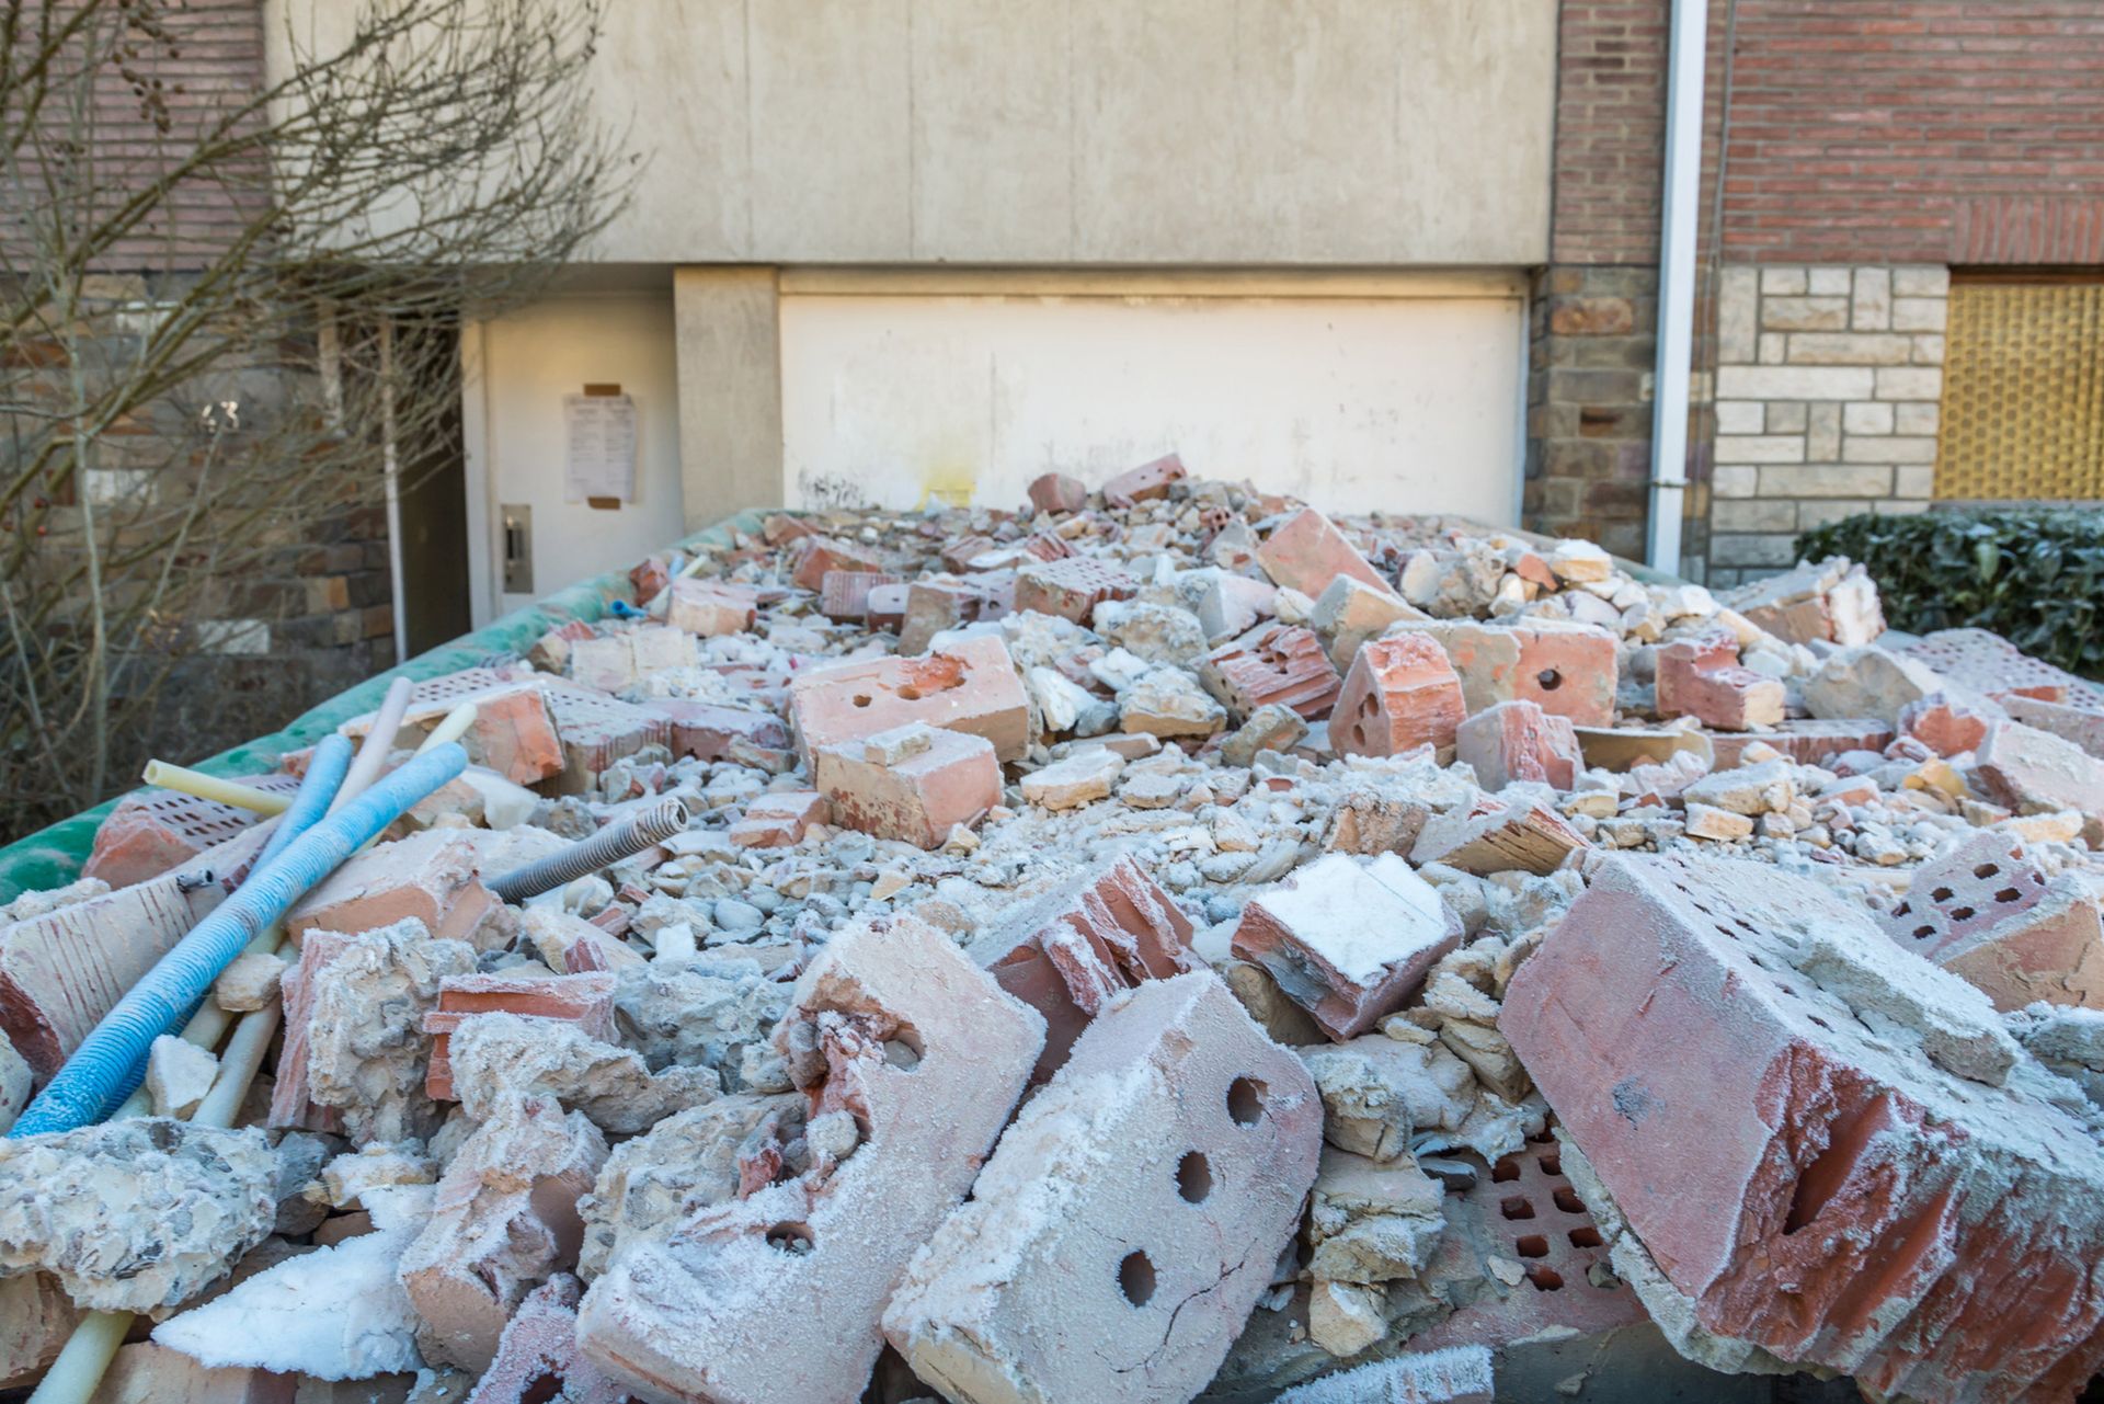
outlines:
[{"label": "jagged broken red brick between white-topped brick and notched frosty brick", "polygon": [[972,960],[1046,1019],[1031,1082],[1046,1082],[1105,1000],[1199,968],[1191,918],[1130,857],[1113,859],[985,928]]}]

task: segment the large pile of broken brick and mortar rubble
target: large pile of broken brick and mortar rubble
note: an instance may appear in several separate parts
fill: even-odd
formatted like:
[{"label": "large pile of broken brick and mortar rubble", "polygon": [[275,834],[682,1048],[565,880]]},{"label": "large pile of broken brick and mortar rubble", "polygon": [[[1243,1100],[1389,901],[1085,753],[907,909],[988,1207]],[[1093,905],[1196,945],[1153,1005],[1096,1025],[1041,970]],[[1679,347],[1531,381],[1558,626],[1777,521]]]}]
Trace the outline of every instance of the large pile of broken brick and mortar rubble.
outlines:
[{"label": "large pile of broken brick and mortar rubble", "polygon": [[[393,743],[471,701],[473,768],[219,979],[284,1010],[236,1128],[164,1038],[149,1118],[0,1143],[0,1381],[90,1309],[141,1313],[105,1400],[2104,1366],[2089,684],[1887,634],[1847,562],[1719,600],[1174,457],[633,583],[414,690]],[[684,831],[503,899],[667,796]],[[0,909],[0,1116],[252,819],[126,800]]]}]

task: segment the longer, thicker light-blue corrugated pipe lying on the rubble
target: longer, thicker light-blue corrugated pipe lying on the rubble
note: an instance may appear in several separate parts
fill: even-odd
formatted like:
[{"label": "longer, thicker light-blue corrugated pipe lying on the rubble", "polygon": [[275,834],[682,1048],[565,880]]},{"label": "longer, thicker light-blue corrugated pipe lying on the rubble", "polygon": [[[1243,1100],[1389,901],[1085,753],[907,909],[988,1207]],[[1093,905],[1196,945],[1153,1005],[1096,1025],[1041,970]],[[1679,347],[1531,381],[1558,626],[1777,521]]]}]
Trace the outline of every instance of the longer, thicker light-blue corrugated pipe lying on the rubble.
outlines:
[{"label": "longer, thicker light-blue corrugated pipe lying on the rubble", "polygon": [[459,743],[440,745],[286,842],[269,867],[252,871],[234,897],[177,941],[145,979],[103,1015],[50,1086],[21,1114],[8,1137],[72,1130],[109,1116],[130,1092],[122,1084],[154,1040],[181,1025],[183,1010],[210,989],[257,932],[282,918],[307,888],[377,838],[410,804],[465,768],[467,751]]}]

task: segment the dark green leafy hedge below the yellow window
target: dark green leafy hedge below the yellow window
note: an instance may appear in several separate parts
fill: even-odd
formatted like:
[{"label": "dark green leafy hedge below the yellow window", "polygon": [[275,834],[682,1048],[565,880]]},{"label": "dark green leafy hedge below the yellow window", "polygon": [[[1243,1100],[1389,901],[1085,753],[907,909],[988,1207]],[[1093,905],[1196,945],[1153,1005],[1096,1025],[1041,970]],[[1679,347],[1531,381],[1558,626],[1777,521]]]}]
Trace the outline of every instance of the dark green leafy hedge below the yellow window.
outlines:
[{"label": "dark green leafy hedge below the yellow window", "polygon": [[1801,535],[1797,554],[1862,562],[1898,629],[1992,629],[2028,655],[2104,680],[2104,509],[1852,516]]}]

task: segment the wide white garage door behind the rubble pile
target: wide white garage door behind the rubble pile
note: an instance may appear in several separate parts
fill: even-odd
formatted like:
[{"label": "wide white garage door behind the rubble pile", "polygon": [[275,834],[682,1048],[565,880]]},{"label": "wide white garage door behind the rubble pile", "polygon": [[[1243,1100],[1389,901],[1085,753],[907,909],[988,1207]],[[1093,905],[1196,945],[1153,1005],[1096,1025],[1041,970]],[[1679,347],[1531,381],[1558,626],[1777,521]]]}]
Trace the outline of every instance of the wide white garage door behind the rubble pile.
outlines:
[{"label": "wide white garage door behind the rubble pile", "polygon": [[1525,297],[1517,276],[1319,295],[789,290],[791,505],[1014,507],[1176,450],[1338,512],[1513,522]]}]

